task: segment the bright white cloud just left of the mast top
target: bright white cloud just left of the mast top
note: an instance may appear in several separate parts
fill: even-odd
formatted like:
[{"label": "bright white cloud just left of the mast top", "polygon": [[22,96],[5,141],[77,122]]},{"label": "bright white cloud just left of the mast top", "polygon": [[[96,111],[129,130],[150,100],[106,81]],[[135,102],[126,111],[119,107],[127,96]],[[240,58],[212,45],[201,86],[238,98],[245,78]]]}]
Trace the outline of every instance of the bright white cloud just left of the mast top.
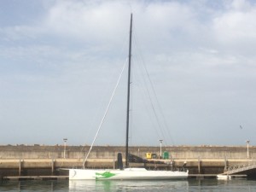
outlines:
[{"label": "bright white cloud just left of the mast top", "polygon": [[127,13],[125,4],[117,1],[57,1],[49,9],[45,25],[59,35],[103,44],[119,40],[129,22],[124,12]]}]

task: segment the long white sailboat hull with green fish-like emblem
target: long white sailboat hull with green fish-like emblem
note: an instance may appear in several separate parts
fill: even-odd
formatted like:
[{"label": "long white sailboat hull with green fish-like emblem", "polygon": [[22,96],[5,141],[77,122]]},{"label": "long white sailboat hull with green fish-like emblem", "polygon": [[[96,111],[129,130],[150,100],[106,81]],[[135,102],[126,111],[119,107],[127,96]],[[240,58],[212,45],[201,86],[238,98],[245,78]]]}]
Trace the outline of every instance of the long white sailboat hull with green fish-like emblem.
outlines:
[{"label": "long white sailboat hull with green fish-like emblem", "polygon": [[147,171],[144,168],[125,170],[69,169],[69,180],[167,180],[187,178],[189,172]]}]

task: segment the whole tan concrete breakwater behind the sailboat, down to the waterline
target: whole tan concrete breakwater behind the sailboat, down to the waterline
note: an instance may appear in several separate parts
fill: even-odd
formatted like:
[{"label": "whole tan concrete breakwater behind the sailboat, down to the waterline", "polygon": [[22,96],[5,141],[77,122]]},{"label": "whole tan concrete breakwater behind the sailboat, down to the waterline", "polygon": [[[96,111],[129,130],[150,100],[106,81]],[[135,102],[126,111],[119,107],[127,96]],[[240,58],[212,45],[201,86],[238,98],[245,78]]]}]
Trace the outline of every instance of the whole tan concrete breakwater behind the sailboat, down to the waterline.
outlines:
[{"label": "whole tan concrete breakwater behind the sailboat, down to the waterline", "polygon": [[[31,175],[67,175],[60,168],[81,167],[89,146],[0,146],[0,177]],[[150,169],[186,168],[191,174],[218,174],[229,166],[253,162],[255,147],[219,147],[219,146],[167,146],[162,152],[169,153],[164,160],[166,166],[147,164]],[[125,147],[96,146],[92,149],[86,166],[89,168],[113,168],[116,156],[125,154]],[[146,157],[146,153],[160,154],[160,147],[133,146],[130,153]],[[65,158],[64,158],[65,156]],[[248,158],[247,158],[248,157]],[[144,166],[131,164],[131,166]]]}]

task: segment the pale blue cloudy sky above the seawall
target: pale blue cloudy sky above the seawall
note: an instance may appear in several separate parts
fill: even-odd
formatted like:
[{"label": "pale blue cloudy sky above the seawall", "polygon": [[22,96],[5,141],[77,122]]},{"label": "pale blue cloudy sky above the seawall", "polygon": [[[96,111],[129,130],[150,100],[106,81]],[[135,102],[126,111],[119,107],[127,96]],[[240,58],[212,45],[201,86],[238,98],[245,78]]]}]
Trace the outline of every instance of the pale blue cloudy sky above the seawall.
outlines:
[{"label": "pale blue cloudy sky above the seawall", "polygon": [[[0,144],[92,143],[127,59],[131,12],[131,145],[255,144],[249,0],[0,1]],[[125,145],[126,79],[96,145]]]}]

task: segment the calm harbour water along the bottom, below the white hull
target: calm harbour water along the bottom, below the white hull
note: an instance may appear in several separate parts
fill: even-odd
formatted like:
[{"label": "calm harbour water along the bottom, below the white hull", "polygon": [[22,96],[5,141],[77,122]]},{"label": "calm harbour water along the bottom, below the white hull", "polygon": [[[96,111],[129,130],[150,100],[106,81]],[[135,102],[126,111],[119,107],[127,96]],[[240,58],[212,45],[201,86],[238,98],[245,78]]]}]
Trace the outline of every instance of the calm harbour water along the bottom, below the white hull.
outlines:
[{"label": "calm harbour water along the bottom, below the white hull", "polygon": [[256,180],[189,179],[182,181],[4,181],[0,191],[256,191]]}]

